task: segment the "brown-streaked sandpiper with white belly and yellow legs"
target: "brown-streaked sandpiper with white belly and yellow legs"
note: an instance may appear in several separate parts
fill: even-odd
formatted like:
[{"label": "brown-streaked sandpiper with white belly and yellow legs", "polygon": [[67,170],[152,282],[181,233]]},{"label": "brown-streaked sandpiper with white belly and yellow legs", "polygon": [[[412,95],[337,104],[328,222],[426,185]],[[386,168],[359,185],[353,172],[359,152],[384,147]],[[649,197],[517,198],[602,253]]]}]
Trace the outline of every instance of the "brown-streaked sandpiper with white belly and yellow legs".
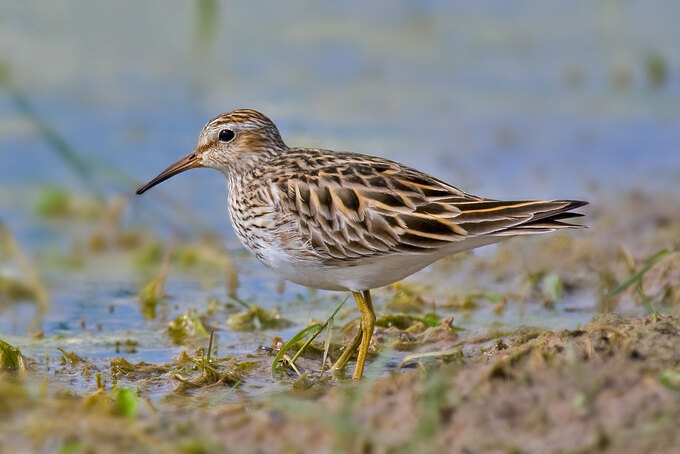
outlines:
[{"label": "brown-streaked sandpiper with white belly and yellow legs", "polygon": [[286,280],[351,292],[359,329],[332,366],[357,352],[363,376],[375,327],[370,291],[458,252],[513,237],[583,226],[565,219],[580,200],[479,197],[399,162],[360,153],[289,147],[264,114],[216,116],[194,150],[140,187],[197,167],[222,172],[228,211],[244,247]]}]

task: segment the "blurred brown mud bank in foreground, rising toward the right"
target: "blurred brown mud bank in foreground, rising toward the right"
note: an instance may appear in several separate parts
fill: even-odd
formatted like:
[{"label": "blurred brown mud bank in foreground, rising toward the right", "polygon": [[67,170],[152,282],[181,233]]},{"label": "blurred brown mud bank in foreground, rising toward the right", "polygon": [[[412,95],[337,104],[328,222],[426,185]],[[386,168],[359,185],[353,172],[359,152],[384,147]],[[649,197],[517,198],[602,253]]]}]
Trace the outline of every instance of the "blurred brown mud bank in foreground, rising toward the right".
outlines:
[{"label": "blurred brown mud bank in foreground, rising toward the right", "polygon": [[[671,453],[678,345],[680,317],[606,314],[466,343],[361,384],[303,377],[269,399],[224,403],[229,382],[218,380],[141,397],[128,417],[120,392],[5,377],[3,451]],[[167,379],[167,367],[136,378]]]}]

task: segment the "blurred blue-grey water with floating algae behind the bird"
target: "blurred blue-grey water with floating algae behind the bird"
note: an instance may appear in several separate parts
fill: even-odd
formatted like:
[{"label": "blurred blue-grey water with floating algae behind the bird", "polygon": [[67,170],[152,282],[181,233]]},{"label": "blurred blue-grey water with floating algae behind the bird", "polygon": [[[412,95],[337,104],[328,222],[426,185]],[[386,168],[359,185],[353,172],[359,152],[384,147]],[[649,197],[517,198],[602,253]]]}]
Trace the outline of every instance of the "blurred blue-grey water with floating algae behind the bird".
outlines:
[{"label": "blurred blue-grey water with floating algae behind the bird", "polygon": [[[3,2],[0,333],[25,354],[66,345],[108,364],[121,345],[171,360],[183,341],[168,323],[205,322],[206,307],[226,311],[211,319],[222,352],[325,319],[342,296],[245,254],[217,172],[133,197],[235,108],[270,116],[288,145],[385,156],[491,198],[613,213],[628,194],[676,194],[678,17],[671,1]],[[445,289],[469,277],[450,274]],[[231,330],[234,296],[294,323]],[[532,313],[461,323],[593,314]]]}]

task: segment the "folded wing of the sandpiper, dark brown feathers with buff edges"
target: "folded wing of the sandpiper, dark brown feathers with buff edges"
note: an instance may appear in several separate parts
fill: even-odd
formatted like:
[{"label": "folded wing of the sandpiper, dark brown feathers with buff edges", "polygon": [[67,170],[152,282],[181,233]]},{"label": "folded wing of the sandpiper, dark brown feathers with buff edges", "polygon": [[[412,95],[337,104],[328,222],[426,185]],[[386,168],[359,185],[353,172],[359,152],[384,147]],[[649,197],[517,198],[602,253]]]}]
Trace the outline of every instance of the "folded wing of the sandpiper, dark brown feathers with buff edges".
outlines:
[{"label": "folded wing of the sandpiper, dark brown feathers with buff edges", "polygon": [[577,206],[566,200],[482,199],[372,156],[306,149],[292,150],[286,159],[286,167],[296,171],[273,181],[274,187],[284,208],[300,219],[312,248],[329,261],[429,253],[471,236],[501,236],[523,225],[522,233],[554,230],[570,225],[551,216]]}]

